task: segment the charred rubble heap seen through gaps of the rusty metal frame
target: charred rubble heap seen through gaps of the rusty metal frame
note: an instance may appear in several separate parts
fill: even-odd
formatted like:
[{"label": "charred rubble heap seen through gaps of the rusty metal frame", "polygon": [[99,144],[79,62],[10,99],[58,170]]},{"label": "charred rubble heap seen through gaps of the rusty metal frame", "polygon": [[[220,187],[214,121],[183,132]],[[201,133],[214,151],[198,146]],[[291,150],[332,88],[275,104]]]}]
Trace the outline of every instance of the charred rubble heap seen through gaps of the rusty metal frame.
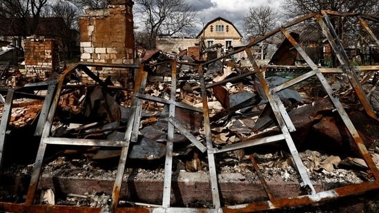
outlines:
[{"label": "charred rubble heap seen through gaps of the rusty metal frame", "polygon": [[[160,53],[160,52],[159,52]],[[162,54],[162,53],[160,53]],[[191,58],[184,57],[187,60]],[[155,61],[157,63],[157,61]],[[202,96],[200,91],[197,70],[191,65],[178,67],[179,77],[175,99],[177,102],[202,108]],[[160,68],[162,69],[162,68]],[[148,68],[151,75],[167,76],[168,71],[157,73],[159,68]],[[218,70],[217,72],[215,70]],[[247,76],[243,79],[229,81],[233,77],[239,77],[245,68],[238,63],[230,61],[216,61],[208,66],[205,79],[208,85],[224,81],[224,85],[216,85],[208,88],[207,101],[211,119],[212,141],[215,148],[233,143],[243,143],[260,136],[278,132],[278,127],[270,114],[265,114],[266,99],[257,90],[257,81]],[[148,81],[144,94],[150,97],[168,99],[171,93],[170,81],[157,81],[159,78]],[[270,77],[268,82],[272,85],[285,81],[282,77]],[[376,82],[368,81],[370,84]],[[360,183],[371,179],[367,174],[367,165],[362,159],[354,158],[357,151],[353,148],[353,142],[346,143],[348,134],[345,131],[329,131],[331,127],[340,129],[341,125],[337,115],[333,113],[333,105],[327,99],[313,97],[313,101],[307,99],[307,91],[312,88],[303,88],[302,92],[286,89],[280,94],[282,102],[293,119],[295,128],[293,132],[296,145],[300,150],[300,157],[309,172],[311,181],[317,183],[347,185]],[[72,139],[108,139],[115,140],[123,136],[126,128],[132,101],[126,99],[128,92],[108,90],[106,87],[96,85],[87,90],[75,89],[61,96],[55,114],[55,122],[52,135],[68,137]],[[309,92],[310,93],[310,92]],[[133,93],[132,93],[133,94]],[[305,97],[305,98],[303,98]],[[362,137],[367,142],[367,147],[373,151],[376,165],[379,163],[379,155],[376,153],[376,137],[378,122],[372,121],[359,108],[356,103],[346,103],[349,114],[356,121],[362,121],[357,125],[358,130],[364,132]],[[23,109],[23,110],[22,110]],[[26,112],[28,113],[23,113]],[[37,109],[37,110],[36,110]],[[13,108],[11,122],[24,124],[17,121],[35,121],[41,103],[28,105],[24,108]],[[22,116],[21,116],[22,115]],[[190,115],[190,116],[188,116]],[[162,158],[166,152],[168,108],[164,103],[155,101],[142,101],[142,114],[139,123],[139,134],[142,139],[132,146],[128,157],[130,159],[142,159],[153,161],[154,168],[138,168],[139,165],[127,164],[124,176],[137,167],[135,179],[139,176],[148,179],[164,179],[164,162]],[[200,112],[189,112],[183,108],[177,108],[175,117],[183,122],[188,129],[204,143],[203,116]],[[325,129],[324,127],[328,127]],[[315,137],[315,135],[317,135]],[[313,139],[312,139],[313,138]],[[174,175],[179,172],[204,172],[208,173],[206,156],[200,153],[186,137],[176,132],[173,161]],[[349,139],[347,139],[349,141]],[[324,143],[322,143],[324,142]],[[312,148],[312,150],[309,150]],[[346,152],[341,152],[346,150]],[[106,149],[90,147],[81,150],[59,150],[54,152],[43,165],[42,175],[64,176],[79,179],[115,179],[117,163],[104,166],[103,161],[119,157],[119,149]],[[216,165],[220,173],[242,174],[243,181],[258,182],[258,176],[250,160],[253,156],[266,181],[297,182],[300,178],[293,165],[293,159],[284,145],[264,145],[257,148],[246,148],[232,152],[225,152],[217,157]],[[4,168],[4,174],[31,175],[32,165],[12,165]],[[233,180],[231,180],[233,181]],[[241,179],[240,179],[241,181]],[[90,201],[93,192],[82,195],[68,195],[58,203],[65,205],[90,205],[96,206],[99,201]],[[97,192],[98,193],[98,192]],[[8,195],[9,196],[9,195]],[[100,195],[104,196],[104,195]],[[109,196],[109,195],[108,195]],[[103,204],[107,205],[108,196]],[[9,197],[8,197],[9,199]]]}]

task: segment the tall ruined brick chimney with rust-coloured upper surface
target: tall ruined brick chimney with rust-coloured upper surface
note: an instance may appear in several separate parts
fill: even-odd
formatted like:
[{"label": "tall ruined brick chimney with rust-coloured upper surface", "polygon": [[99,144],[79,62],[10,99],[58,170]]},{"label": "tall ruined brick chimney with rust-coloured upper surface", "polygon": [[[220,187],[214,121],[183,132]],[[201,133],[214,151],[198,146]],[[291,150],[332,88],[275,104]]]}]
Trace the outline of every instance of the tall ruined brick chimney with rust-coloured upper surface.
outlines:
[{"label": "tall ruined brick chimney with rust-coloured upper surface", "polygon": [[[81,61],[107,64],[133,64],[135,42],[133,34],[133,1],[113,0],[106,9],[86,10],[79,19]],[[101,68],[93,72],[101,79],[110,76],[123,86],[133,79],[133,70]],[[91,79],[83,75],[84,83]]]}]

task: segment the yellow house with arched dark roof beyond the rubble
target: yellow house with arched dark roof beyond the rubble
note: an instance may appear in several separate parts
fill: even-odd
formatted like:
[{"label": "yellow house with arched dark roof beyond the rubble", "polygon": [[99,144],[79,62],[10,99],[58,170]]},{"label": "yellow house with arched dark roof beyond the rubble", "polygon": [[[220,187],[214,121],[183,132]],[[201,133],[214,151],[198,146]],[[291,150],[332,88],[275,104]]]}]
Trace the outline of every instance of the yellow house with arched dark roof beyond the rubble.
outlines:
[{"label": "yellow house with arched dark roof beyond the rubble", "polygon": [[223,45],[224,51],[232,46],[242,44],[242,34],[238,32],[231,21],[222,17],[217,17],[206,23],[202,31],[197,34],[197,39],[204,41],[206,48],[220,43]]}]

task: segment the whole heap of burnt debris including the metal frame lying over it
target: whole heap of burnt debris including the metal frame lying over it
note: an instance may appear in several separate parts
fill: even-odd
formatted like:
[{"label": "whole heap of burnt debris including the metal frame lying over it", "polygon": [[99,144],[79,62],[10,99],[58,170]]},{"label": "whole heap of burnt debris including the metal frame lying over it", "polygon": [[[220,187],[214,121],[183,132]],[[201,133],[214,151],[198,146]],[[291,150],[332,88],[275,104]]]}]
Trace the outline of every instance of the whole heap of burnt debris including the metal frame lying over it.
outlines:
[{"label": "whole heap of burnt debris including the metal frame lying over it", "polygon": [[[320,17],[315,14],[315,18]],[[322,28],[324,24],[320,21]],[[328,34],[331,29],[323,30]],[[280,31],[286,37],[284,49],[275,55],[296,50],[309,64],[294,79],[273,74],[270,65],[258,66],[250,49],[259,42],[255,41],[237,50],[246,52],[249,63],[230,59],[235,52],[196,61],[185,52],[172,56],[146,50],[134,90],[99,79],[88,68],[112,65],[91,63],[79,63],[50,81],[8,90],[0,125],[8,132],[1,142],[14,143],[6,141],[13,132],[8,125],[30,125],[35,130],[32,136],[40,139],[32,144],[38,149],[34,165],[10,163],[4,168],[4,174],[30,177],[26,199],[17,196],[12,202],[37,202],[40,175],[115,180],[113,192],[55,194],[63,197],[56,203],[110,210],[129,202],[130,197],[119,200],[124,179],[143,178],[164,182],[162,201],[169,207],[171,182],[180,181],[180,174],[186,172],[209,176],[215,208],[221,207],[217,181],[236,181],[228,174],[238,174],[238,183],[262,185],[269,201],[253,200],[257,201],[251,203],[254,210],[307,205],[375,190],[379,178],[379,71],[371,66],[326,70],[302,51],[297,34],[284,28]],[[333,43],[334,39],[329,42],[344,60],[343,52],[337,51],[339,44]],[[293,55],[273,61],[294,63]],[[355,69],[362,74],[357,75]],[[76,70],[86,72],[96,83],[83,85],[79,79],[68,79]],[[9,101],[13,92],[25,95],[25,88],[46,90],[43,103],[21,110],[12,103],[18,97]],[[38,97],[34,93],[28,96]],[[8,120],[10,123],[5,123]],[[49,150],[47,145],[55,146]],[[269,181],[297,184],[300,196],[273,199]],[[325,192],[318,193],[322,190],[318,191],[315,183]],[[26,189],[14,192],[26,194]],[[51,199],[46,200],[39,202],[51,204]],[[241,204],[224,201],[225,208],[240,208],[233,206],[236,203]],[[244,211],[248,212],[249,206]]]}]

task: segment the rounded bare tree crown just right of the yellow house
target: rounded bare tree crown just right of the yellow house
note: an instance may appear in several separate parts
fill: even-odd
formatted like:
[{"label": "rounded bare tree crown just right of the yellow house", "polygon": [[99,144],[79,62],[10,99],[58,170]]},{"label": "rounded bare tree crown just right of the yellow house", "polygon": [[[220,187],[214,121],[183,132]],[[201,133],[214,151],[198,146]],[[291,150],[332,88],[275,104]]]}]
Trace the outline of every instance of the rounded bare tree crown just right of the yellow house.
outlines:
[{"label": "rounded bare tree crown just right of the yellow house", "polygon": [[275,28],[278,15],[270,6],[249,8],[244,17],[244,30],[249,37],[261,37]]}]

